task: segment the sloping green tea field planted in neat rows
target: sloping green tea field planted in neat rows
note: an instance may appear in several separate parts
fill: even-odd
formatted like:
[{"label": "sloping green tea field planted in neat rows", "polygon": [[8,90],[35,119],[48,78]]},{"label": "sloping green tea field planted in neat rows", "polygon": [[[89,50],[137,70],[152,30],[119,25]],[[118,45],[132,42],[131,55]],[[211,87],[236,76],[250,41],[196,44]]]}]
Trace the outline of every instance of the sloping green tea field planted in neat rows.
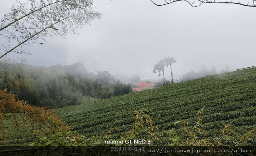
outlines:
[{"label": "sloping green tea field planted in neat rows", "polygon": [[[57,108],[54,112],[72,127],[72,131],[82,133],[86,137],[106,136],[105,140],[125,136],[133,129],[136,112],[137,115],[141,112],[139,115],[144,113],[150,116],[148,121],[152,119],[153,125],[159,129],[154,128],[151,132],[166,145],[171,143],[166,131],[172,128],[177,129],[180,143],[185,144],[190,136],[181,132],[179,126],[174,126],[174,122],[188,121],[186,128],[192,129],[194,122],[198,120],[195,118],[196,113],[204,106],[204,115],[201,114],[200,117],[203,125],[201,132],[204,132],[198,133],[198,139],[206,138],[213,143],[216,137],[226,135],[230,136],[230,139],[219,138],[223,144],[242,144],[244,136],[250,131],[250,134],[253,134],[252,130],[256,130],[256,68]],[[255,139],[255,135],[249,136]],[[151,137],[144,131],[140,132],[137,138]],[[161,143],[154,141],[154,144]],[[248,144],[256,145],[253,141]]]}]

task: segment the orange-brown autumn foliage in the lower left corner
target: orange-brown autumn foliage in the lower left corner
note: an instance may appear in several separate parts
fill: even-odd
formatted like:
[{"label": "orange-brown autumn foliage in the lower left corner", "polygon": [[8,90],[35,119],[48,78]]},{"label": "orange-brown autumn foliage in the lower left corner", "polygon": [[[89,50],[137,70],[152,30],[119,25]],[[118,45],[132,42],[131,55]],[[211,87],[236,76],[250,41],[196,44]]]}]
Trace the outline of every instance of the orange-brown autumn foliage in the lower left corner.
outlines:
[{"label": "orange-brown autumn foliage in the lower left corner", "polygon": [[[46,107],[38,108],[26,104],[26,101],[19,100],[14,94],[7,93],[7,89],[0,89],[0,130],[1,139],[8,137],[22,129],[26,132],[39,134],[56,133],[59,130],[67,129],[63,122]],[[11,123],[11,125],[10,125]],[[14,129],[13,127],[14,126]],[[8,142],[7,140],[5,141]]]}]

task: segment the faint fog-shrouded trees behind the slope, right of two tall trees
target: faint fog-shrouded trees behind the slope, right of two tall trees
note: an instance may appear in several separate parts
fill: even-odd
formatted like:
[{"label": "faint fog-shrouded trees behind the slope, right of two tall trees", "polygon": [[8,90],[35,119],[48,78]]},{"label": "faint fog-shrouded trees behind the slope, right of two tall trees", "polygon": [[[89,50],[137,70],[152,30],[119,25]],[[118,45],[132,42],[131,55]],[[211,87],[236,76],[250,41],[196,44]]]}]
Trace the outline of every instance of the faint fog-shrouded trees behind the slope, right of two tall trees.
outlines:
[{"label": "faint fog-shrouded trees behind the slope, right of two tall trees", "polygon": [[[223,73],[223,72],[230,72],[229,66],[226,66],[225,70],[219,71],[219,73]],[[201,77],[215,75],[215,74],[217,74],[217,70],[215,67],[212,67],[212,69],[208,71],[207,68],[203,66],[199,72],[194,72],[193,70],[191,72],[186,72],[182,76],[182,81],[189,81],[189,80],[198,79]]]}]

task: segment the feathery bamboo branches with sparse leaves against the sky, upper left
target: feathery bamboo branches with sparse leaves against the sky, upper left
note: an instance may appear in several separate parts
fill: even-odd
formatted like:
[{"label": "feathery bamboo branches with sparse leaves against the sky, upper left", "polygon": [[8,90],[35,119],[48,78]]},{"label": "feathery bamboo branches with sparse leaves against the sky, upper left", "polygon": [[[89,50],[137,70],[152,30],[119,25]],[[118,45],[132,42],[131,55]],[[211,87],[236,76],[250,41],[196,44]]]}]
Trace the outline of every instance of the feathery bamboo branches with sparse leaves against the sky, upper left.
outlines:
[{"label": "feathery bamboo branches with sparse leaves against the sky, upper left", "polygon": [[[92,9],[93,0],[28,0],[30,4],[13,5],[11,11],[4,14],[0,23],[0,36],[6,38],[0,50],[0,58],[11,51],[26,53],[17,47],[31,46],[31,43],[46,41],[45,37],[66,37],[68,33],[78,34],[77,30],[92,20],[98,20],[102,14]],[[27,5],[30,8],[27,8]],[[16,43],[13,48],[10,43]]]}]

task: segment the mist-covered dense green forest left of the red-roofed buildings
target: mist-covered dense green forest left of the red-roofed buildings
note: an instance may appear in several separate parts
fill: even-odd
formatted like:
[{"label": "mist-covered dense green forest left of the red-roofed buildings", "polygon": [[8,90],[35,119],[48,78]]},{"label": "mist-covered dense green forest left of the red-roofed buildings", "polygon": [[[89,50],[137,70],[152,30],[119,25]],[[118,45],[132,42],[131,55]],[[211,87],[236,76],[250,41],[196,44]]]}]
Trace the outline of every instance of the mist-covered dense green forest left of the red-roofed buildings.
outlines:
[{"label": "mist-covered dense green forest left of the red-roofed buildings", "polygon": [[26,60],[0,61],[0,88],[37,107],[60,108],[132,91],[109,72],[89,73],[84,64],[51,67],[28,65]]}]

